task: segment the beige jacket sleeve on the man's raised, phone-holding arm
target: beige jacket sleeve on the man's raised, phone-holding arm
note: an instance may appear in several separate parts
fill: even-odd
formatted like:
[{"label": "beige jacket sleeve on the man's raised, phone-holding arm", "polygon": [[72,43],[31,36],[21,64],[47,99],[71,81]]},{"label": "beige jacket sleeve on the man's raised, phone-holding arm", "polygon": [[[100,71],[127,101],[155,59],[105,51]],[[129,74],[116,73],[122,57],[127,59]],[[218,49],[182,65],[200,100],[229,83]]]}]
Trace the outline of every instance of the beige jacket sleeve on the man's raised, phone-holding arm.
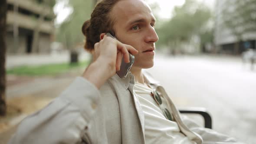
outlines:
[{"label": "beige jacket sleeve on the man's raised, phone-holding arm", "polygon": [[91,143],[86,132],[99,98],[94,85],[77,77],[58,98],[25,118],[9,144]]}]

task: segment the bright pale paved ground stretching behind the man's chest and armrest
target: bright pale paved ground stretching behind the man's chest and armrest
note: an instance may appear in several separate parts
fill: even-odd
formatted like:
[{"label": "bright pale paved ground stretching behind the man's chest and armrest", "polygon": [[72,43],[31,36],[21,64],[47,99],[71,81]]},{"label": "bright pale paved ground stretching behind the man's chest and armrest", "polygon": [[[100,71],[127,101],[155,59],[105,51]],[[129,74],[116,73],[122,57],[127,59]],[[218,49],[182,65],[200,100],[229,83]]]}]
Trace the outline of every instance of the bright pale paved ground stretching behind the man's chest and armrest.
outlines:
[{"label": "bright pale paved ground stretching behind the man's chest and armrest", "polygon": [[178,106],[207,108],[213,129],[256,142],[256,71],[239,58],[156,56],[149,71]]}]

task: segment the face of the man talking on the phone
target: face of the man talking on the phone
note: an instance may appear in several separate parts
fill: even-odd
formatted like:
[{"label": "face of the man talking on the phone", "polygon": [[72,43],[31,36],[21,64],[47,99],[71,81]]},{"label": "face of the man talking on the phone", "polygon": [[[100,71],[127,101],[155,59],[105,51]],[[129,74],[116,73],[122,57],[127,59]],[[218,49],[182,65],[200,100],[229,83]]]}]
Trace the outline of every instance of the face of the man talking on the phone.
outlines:
[{"label": "face of the man talking on the phone", "polygon": [[155,18],[143,0],[121,0],[111,12],[115,36],[121,42],[137,49],[133,69],[147,69],[154,65]]}]

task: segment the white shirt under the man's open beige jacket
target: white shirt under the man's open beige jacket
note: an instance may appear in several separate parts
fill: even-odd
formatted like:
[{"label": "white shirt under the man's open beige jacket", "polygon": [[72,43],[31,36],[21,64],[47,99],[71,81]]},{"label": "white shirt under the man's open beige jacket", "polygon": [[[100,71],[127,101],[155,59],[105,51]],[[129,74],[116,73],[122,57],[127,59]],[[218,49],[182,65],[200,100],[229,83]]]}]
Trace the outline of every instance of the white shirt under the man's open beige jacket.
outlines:
[{"label": "white shirt under the man's open beige jacket", "polygon": [[136,82],[134,90],[144,113],[146,144],[196,144],[180,132],[175,121],[164,117],[157,102],[150,95],[153,91],[151,88]]}]

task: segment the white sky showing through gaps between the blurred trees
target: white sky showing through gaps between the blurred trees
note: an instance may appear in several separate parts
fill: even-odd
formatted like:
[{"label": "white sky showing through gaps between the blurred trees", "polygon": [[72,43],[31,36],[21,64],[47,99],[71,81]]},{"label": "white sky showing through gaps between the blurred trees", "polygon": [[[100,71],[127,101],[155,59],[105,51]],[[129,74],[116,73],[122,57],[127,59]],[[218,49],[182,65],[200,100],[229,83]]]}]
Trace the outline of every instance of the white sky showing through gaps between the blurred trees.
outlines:
[{"label": "white sky showing through gaps between the blurred trees", "polygon": [[[159,16],[161,18],[170,18],[171,12],[175,6],[181,6],[185,0],[147,0],[149,4],[158,3],[160,7]],[[198,0],[206,3],[210,8],[214,7],[215,0]],[[58,0],[54,7],[54,13],[56,13],[56,24],[62,23],[70,13],[72,13],[71,7],[66,7],[68,0]]]}]

